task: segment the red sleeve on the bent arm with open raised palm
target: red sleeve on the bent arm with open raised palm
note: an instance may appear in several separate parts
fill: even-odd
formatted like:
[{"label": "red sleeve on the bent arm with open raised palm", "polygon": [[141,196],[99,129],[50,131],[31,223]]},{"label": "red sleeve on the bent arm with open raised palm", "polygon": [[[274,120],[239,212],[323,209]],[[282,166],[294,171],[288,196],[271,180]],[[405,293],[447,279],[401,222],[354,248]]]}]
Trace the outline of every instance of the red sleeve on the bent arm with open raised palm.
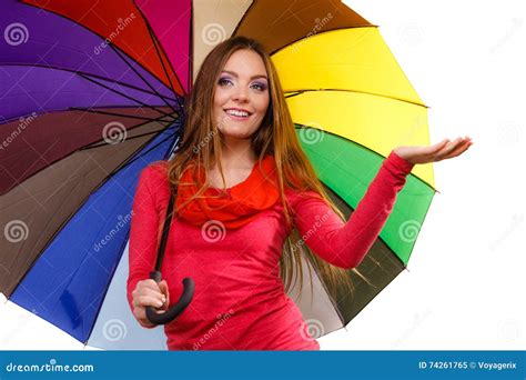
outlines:
[{"label": "red sleeve on the bent arm with open raised palm", "polygon": [[413,167],[392,151],[347,222],[315,191],[292,197],[294,222],[303,241],[336,267],[357,267],[382,231]]}]

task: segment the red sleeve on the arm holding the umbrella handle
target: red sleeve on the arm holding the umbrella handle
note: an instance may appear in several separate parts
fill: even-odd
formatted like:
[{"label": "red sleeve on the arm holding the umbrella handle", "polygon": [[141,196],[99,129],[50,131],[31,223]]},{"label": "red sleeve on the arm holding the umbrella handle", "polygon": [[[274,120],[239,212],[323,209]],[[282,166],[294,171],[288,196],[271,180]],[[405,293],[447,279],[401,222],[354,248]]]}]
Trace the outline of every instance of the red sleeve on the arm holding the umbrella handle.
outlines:
[{"label": "red sleeve on the arm holding the umbrella handle", "polygon": [[[159,186],[159,173],[145,168],[139,178],[132,207],[129,246],[127,297],[133,311],[132,292],[140,280],[150,278],[155,266],[159,233],[159,211],[153,190]],[[146,327],[146,326],[144,326]]]}]

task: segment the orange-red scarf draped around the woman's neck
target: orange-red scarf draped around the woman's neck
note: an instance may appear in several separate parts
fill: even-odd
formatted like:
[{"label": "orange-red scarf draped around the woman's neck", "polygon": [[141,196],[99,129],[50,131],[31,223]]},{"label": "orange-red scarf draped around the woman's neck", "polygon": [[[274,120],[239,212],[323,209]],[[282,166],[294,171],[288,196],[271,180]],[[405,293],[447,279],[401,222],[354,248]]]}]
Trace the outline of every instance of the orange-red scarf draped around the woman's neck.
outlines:
[{"label": "orange-red scarf draped around the woman's neck", "polygon": [[[181,208],[198,192],[198,183],[194,183],[190,164],[181,177],[178,188],[175,204],[178,214],[194,226],[203,226],[211,220],[218,220],[227,229],[237,229],[253,219],[260,211],[272,207],[280,198],[277,190],[277,174],[273,156],[266,156],[252,168],[252,171],[243,182],[226,189],[226,194],[221,189],[208,188],[202,198],[193,199]],[[264,173],[269,179],[265,178]],[[196,172],[199,184],[204,183],[204,168]]]}]

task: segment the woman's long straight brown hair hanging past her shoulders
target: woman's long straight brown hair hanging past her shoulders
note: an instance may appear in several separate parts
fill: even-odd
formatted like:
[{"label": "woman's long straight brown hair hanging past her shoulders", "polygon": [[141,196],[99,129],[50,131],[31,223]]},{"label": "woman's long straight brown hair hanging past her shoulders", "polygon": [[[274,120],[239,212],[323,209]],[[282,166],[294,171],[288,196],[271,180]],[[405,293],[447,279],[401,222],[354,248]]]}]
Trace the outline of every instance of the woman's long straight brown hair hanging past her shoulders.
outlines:
[{"label": "woman's long straight brown hair hanging past her shoulders", "polygon": [[[280,276],[286,291],[291,289],[295,281],[299,281],[301,289],[303,256],[317,271],[323,283],[327,287],[326,290],[330,296],[335,300],[338,284],[344,284],[348,290],[352,290],[350,273],[345,269],[320,259],[303,243],[297,229],[292,226],[291,211],[284,196],[284,189],[289,187],[299,191],[314,190],[323,197],[342,220],[344,220],[344,217],[325,192],[301,148],[276,69],[263,46],[256,40],[245,37],[227,39],[218,44],[204,59],[190,97],[185,100],[183,134],[176,154],[169,161],[170,183],[172,188],[179,186],[181,174],[189,163],[194,163],[198,168],[202,167],[209,172],[213,164],[218,162],[224,180],[221,168],[221,133],[213,120],[213,97],[215,83],[226,61],[235,51],[241,49],[256,52],[262,58],[269,76],[269,108],[260,128],[251,138],[251,146],[259,157],[260,163],[266,154],[274,156],[279,179],[277,186],[285,211],[285,220],[292,227],[292,232],[284,243],[280,259]],[[297,182],[293,181],[292,178],[297,179]],[[202,183],[193,198],[201,197],[208,187],[206,179],[206,183]],[[311,272],[310,277],[312,284]]]}]

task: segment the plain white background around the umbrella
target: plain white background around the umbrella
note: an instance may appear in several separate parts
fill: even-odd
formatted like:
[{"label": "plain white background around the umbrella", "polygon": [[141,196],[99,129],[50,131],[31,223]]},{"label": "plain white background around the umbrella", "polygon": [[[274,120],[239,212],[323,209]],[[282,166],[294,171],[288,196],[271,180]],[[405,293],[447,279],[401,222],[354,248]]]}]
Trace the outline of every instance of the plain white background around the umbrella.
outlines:
[{"label": "plain white background around the umbrella", "polygon": [[[381,27],[431,107],[432,142],[474,146],[435,166],[441,193],[408,271],[322,349],[526,349],[524,2],[345,2]],[[0,348],[83,344],[3,299]]]}]

